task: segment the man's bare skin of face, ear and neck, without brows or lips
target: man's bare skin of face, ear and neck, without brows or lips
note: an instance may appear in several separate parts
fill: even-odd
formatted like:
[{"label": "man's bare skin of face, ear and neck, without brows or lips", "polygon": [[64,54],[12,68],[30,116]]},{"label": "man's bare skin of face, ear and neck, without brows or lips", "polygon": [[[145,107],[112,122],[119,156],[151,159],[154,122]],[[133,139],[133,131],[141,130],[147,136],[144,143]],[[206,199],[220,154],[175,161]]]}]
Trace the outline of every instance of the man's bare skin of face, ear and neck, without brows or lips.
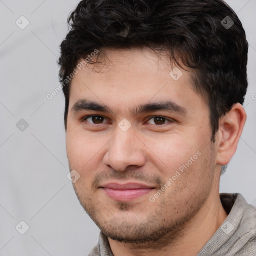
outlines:
[{"label": "man's bare skin of face, ear and neck, without brows or lips", "polygon": [[[236,150],[246,114],[234,104],[220,118],[213,143],[208,106],[194,89],[192,70],[179,68],[182,75],[174,80],[169,72],[175,65],[148,48],[107,49],[100,58],[101,64],[83,67],[71,81],[66,150],[70,170],[80,175],[73,183],[76,195],[107,235],[113,255],[196,255],[227,216],[218,194],[220,169]],[[81,99],[104,104],[112,112],[72,111]],[[129,111],[165,100],[185,113]],[[95,117],[87,115],[104,118],[99,116],[95,124]],[[154,116],[165,119],[155,123]],[[126,131],[118,126],[123,118],[131,124]],[[200,155],[150,201],[196,152]],[[101,187],[129,181],[154,188],[121,201]]]}]

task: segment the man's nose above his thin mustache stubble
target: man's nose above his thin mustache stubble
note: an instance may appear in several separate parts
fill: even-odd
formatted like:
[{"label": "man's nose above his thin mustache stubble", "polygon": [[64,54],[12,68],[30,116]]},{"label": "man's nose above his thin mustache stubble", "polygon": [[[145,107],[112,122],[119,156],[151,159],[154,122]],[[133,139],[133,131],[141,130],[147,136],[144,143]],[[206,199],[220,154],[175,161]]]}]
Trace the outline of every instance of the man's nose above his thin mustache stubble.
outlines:
[{"label": "man's nose above his thin mustache stubble", "polygon": [[140,167],[145,164],[144,144],[132,129],[122,131],[117,127],[114,137],[107,143],[103,164],[115,170],[128,166]]}]

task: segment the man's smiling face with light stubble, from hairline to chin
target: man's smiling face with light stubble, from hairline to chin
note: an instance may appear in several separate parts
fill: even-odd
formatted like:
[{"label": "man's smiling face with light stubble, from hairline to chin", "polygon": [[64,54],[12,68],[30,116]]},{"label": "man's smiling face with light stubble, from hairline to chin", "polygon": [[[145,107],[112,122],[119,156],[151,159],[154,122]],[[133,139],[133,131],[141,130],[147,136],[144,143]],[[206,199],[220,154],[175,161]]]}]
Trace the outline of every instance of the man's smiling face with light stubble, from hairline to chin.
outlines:
[{"label": "man's smiling face with light stubble, from hairline to chin", "polygon": [[209,111],[190,73],[182,69],[178,78],[166,56],[108,49],[104,61],[71,83],[66,148],[80,175],[73,187],[108,237],[157,240],[179,230],[211,194]]}]

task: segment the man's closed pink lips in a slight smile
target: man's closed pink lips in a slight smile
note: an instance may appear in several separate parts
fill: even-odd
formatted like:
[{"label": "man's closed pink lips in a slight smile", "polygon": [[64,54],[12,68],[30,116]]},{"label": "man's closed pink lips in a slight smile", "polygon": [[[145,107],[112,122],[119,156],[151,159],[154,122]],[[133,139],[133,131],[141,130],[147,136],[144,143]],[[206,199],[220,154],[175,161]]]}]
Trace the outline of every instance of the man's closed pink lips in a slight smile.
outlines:
[{"label": "man's closed pink lips in a slight smile", "polygon": [[106,183],[102,188],[107,196],[116,201],[131,201],[152,191],[155,187],[142,183]]}]

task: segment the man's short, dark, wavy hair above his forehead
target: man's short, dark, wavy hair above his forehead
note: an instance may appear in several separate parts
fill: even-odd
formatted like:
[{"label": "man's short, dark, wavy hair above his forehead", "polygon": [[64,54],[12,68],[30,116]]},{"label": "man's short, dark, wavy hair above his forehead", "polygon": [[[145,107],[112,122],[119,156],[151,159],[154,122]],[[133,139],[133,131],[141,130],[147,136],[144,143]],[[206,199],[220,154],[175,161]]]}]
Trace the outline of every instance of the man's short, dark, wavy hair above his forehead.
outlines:
[{"label": "man's short, dark, wavy hair above his forehead", "polygon": [[58,61],[65,129],[69,75],[95,49],[165,49],[179,66],[193,68],[195,88],[209,107],[213,141],[219,118],[244,101],[248,43],[237,15],[222,0],[82,0],[68,23]]}]

